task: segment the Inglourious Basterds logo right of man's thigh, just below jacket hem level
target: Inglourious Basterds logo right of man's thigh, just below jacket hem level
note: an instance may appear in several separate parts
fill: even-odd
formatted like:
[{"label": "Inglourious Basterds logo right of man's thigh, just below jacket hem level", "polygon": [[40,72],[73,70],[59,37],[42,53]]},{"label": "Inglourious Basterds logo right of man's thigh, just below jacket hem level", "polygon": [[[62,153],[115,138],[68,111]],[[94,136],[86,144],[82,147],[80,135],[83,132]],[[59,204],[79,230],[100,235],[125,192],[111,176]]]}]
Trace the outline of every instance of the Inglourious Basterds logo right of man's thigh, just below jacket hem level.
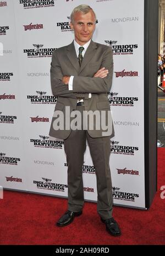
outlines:
[{"label": "Inglourious Basterds logo right of man's thigh, just below jacket hem level", "polygon": [[119,141],[111,140],[111,154],[134,155],[138,146],[120,145]]}]

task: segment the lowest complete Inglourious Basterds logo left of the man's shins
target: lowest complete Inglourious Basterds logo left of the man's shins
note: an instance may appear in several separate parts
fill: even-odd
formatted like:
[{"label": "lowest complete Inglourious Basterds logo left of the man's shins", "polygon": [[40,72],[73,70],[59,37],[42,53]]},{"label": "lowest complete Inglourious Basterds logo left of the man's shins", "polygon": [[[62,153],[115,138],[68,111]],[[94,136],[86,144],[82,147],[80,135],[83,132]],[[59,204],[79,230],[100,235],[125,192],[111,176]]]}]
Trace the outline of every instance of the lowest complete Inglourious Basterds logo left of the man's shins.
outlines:
[{"label": "lowest complete Inglourious Basterds logo left of the man's shins", "polygon": [[42,178],[43,181],[33,181],[37,188],[65,192],[67,184],[54,183],[50,178]]}]

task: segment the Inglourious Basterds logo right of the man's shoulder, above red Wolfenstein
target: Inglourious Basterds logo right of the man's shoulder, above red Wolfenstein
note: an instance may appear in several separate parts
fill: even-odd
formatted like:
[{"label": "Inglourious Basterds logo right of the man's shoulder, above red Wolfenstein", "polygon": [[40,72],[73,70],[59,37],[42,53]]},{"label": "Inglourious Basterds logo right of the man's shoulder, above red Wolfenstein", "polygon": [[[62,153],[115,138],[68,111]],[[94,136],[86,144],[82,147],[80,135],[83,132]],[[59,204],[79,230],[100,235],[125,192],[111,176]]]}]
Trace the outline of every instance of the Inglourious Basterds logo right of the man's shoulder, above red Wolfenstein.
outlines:
[{"label": "Inglourious Basterds logo right of the man's shoulder, above red Wolfenstein", "polygon": [[133,55],[138,45],[117,45],[118,41],[105,40],[106,44],[112,48],[113,55]]}]

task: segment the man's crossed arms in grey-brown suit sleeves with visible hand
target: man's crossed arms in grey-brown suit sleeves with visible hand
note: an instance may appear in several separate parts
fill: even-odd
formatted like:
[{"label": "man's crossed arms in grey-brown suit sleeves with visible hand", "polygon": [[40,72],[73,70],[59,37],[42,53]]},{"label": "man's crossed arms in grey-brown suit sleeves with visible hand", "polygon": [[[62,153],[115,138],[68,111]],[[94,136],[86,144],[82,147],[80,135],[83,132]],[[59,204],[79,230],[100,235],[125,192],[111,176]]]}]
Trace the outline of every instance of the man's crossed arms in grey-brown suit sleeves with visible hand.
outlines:
[{"label": "man's crossed arms in grey-brown suit sleeves with visible hand", "polygon": [[108,92],[111,88],[113,75],[113,58],[111,58],[112,50],[110,49],[109,47],[103,56],[103,68],[99,69],[93,77],[74,77],[73,91],[68,89],[70,77],[63,76],[57,53],[54,52],[51,63],[53,95],[77,99],[81,94],[85,99],[88,99],[90,92],[97,94]]}]

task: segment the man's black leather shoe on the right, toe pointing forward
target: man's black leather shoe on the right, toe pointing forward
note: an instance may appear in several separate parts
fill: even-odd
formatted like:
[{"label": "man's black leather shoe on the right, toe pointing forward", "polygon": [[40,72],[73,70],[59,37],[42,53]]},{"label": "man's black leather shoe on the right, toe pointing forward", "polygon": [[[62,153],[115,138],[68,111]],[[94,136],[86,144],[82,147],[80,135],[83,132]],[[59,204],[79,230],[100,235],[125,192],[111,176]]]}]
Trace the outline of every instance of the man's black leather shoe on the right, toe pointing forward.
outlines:
[{"label": "man's black leather shoe on the right, toe pointing forward", "polygon": [[101,221],[106,224],[106,230],[112,236],[120,236],[121,235],[120,228],[119,228],[119,225],[117,224],[116,220],[114,220],[113,218],[103,220],[101,218]]}]

